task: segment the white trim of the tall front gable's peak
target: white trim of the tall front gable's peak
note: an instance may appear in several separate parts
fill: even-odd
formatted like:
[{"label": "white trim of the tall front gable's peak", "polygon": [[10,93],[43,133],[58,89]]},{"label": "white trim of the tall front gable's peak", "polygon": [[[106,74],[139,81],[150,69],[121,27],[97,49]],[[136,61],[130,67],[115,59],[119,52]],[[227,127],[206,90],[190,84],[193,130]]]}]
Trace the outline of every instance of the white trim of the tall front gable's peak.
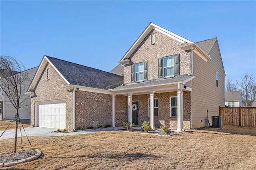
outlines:
[{"label": "white trim of the tall front gable's peak", "polygon": [[186,38],[179,36],[178,34],[170,32],[170,31],[150,22],[150,24],[146,27],[146,29],[142,32],[142,34],[140,34],[138,39],[132,44],[130,49],[125,53],[125,55],[122,57],[122,59],[120,61],[123,61],[124,59],[128,58],[134,52],[134,50],[140,45],[140,43],[144,40],[144,38],[146,38],[146,36],[152,29],[154,29],[158,32],[161,32],[162,34],[169,36],[170,38],[173,38],[174,40],[177,40],[180,43],[193,43],[190,40],[187,40]]}]

